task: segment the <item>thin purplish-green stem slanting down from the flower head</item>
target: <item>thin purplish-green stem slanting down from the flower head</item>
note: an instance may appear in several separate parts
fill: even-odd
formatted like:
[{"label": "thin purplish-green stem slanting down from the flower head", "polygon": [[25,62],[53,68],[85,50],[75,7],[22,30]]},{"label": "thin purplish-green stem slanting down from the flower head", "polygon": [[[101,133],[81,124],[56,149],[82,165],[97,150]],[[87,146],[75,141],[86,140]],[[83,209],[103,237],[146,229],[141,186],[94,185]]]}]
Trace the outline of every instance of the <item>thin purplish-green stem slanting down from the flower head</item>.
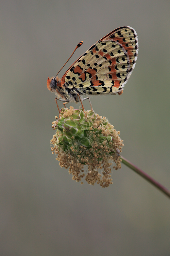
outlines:
[{"label": "thin purplish-green stem slanting down from the flower head", "polygon": [[158,181],[154,180],[152,177],[150,177],[147,173],[139,169],[137,166],[129,162],[126,158],[121,157],[122,163],[127,165],[129,168],[131,168],[133,171],[138,173],[140,176],[142,176],[146,181],[149,181],[152,185],[157,187],[161,192],[163,192],[165,195],[167,195],[170,198],[170,191],[162,186]]}]

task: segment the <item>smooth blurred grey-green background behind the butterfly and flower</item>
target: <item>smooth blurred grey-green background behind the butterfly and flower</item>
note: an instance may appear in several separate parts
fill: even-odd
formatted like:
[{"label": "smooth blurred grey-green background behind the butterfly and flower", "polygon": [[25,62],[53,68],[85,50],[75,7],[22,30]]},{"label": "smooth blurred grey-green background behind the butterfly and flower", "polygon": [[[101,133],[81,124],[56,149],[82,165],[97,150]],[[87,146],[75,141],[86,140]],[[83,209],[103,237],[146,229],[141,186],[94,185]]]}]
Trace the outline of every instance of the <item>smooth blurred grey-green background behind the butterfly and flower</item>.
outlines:
[{"label": "smooth blurred grey-green background behind the butterfly and flower", "polygon": [[60,76],[110,31],[133,27],[139,55],[123,95],[91,101],[120,130],[122,156],[170,189],[169,10],[169,0],[1,0],[2,256],[170,255],[170,201],[160,191],[123,164],[105,189],[59,167],[46,88],[81,40]]}]

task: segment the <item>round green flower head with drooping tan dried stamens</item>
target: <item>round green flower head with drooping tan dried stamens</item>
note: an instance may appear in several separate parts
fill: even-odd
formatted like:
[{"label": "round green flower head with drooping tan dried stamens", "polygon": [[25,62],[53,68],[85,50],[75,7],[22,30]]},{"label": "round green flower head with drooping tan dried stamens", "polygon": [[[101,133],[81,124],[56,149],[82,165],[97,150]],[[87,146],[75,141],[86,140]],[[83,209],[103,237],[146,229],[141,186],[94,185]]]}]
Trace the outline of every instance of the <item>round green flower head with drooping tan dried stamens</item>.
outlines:
[{"label": "round green flower head with drooping tan dried stamens", "polygon": [[[85,176],[83,167],[87,165],[85,181],[108,187],[112,184],[112,162],[115,163],[114,169],[121,168],[123,140],[106,117],[92,110],[85,113],[87,121],[80,109],[61,109],[59,119],[52,123],[56,134],[51,140],[51,151],[57,155],[61,167],[69,168],[73,180],[81,181]],[[102,168],[102,173],[99,173]]]}]

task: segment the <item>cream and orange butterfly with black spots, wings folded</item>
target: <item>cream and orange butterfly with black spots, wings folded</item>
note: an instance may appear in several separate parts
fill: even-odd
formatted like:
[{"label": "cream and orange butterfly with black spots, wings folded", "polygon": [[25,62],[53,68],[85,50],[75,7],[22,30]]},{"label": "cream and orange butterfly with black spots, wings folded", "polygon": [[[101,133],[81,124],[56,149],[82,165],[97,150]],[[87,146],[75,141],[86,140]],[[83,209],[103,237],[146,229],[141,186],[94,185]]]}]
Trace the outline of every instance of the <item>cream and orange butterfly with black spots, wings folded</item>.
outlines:
[{"label": "cream and orange butterfly with black spots, wings folded", "polygon": [[64,101],[64,106],[68,102],[80,101],[82,104],[83,100],[89,98],[83,98],[83,95],[121,95],[135,67],[137,56],[136,31],[128,26],[117,28],[90,47],[62,78],[58,74],[53,78],[48,77],[47,88],[56,93],[56,103],[57,99]]}]

